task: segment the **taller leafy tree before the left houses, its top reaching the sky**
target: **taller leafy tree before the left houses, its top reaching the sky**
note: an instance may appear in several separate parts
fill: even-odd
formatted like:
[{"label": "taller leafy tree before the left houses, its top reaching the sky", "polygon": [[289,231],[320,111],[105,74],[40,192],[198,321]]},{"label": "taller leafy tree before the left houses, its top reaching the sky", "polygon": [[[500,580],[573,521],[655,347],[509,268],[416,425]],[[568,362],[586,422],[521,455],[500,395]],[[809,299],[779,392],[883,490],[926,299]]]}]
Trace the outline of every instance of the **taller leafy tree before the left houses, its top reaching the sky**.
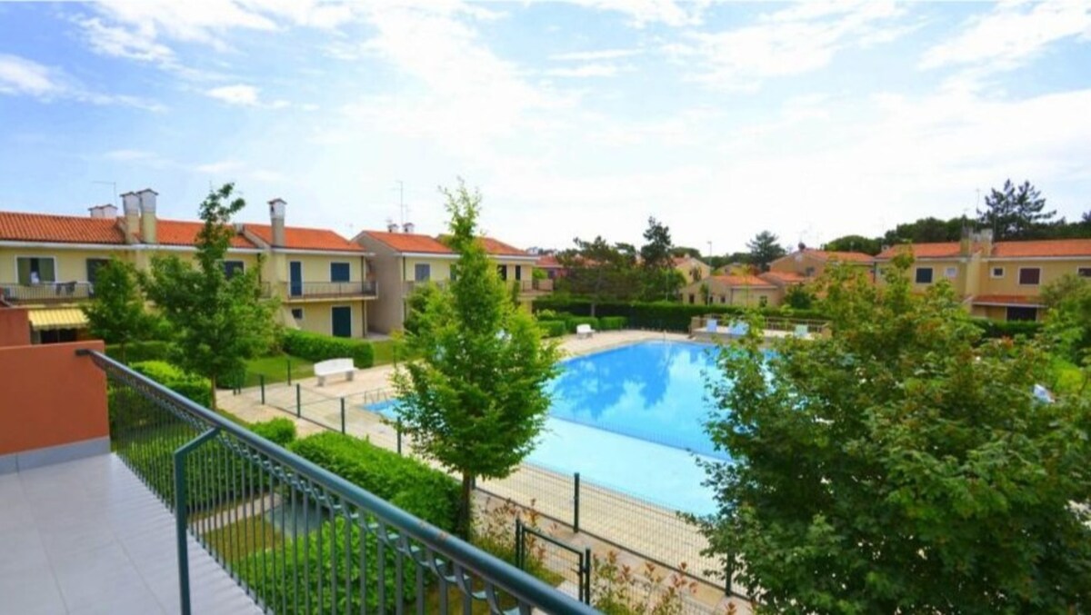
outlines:
[{"label": "taller leafy tree before the left houses, its top reaching the sky", "polygon": [[208,192],[201,204],[204,226],[197,233],[195,266],[177,256],[156,256],[145,285],[170,323],[181,349],[181,366],[207,376],[212,403],[216,384],[245,369],[245,360],[267,350],[274,339],[274,300],[261,298],[259,270],[227,277],[224,256],[235,230],[231,217],[245,206],[233,198],[235,184]]}]

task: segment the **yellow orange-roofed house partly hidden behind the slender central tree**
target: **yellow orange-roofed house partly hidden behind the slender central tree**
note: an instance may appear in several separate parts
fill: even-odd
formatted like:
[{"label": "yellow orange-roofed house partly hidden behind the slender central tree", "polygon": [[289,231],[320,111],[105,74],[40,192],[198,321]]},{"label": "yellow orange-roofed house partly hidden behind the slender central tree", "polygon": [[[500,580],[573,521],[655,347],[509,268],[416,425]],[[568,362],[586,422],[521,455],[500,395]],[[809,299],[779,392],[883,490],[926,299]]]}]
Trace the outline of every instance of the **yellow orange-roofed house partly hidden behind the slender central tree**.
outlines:
[{"label": "yellow orange-roofed house partly hidden behind the slender central tree", "polygon": [[[372,327],[380,333],[400,329],[406,317],[406,299],[413,289],[421,284],[444,286],[452,278],[451,265],[458,260],[440,238],[411,231],[411,225],[406,225],[405,232],[391,225],[386,231],[362,231],[353,238],[374,254],[375,275],[384,282],[383,296],[375,302],[371,319]],[[501,279],[519,285],[524,303],[548,291],[533,279],[537,256],[496,239],[483,237],[481,241],[496,263]]]}]

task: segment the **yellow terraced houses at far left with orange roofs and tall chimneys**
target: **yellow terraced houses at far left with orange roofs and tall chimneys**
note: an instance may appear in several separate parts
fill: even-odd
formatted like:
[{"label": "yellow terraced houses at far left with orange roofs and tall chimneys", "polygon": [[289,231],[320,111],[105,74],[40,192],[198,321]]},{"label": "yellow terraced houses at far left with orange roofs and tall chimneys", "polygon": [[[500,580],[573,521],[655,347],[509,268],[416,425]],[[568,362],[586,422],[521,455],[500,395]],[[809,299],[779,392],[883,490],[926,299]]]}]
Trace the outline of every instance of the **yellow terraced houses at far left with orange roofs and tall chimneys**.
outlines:
[{"label": "yellow terraced houses at far left with orange roofs and tall chimneys", "polygon": [[[151,189],[122,195],[123,212],[100,205],[89,216],[0,212],[0,298],[29,309],[35,342],[81,339],[81,301],[111,257],[146,269],[157,254],[192,258],[203,222],[159,219]],[[261,267],[263,288],[281,302],[286,326],[363,337],[377,297],[368,252],[327,229],[285,225],[286,203],[269,202],[269,224],[237,224],[224,268]]]}]

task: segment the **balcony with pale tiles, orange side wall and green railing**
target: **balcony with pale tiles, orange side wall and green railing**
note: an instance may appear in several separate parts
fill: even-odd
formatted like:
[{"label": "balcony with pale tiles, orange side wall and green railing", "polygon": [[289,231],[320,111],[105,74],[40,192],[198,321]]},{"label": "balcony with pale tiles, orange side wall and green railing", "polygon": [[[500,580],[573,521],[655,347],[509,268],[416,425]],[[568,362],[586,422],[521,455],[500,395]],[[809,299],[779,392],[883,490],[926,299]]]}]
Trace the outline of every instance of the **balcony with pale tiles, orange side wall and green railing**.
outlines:
[{"label": "balcony with pale tiles, orange side wall and green railing", "polygon": [[0,612],[595,613],[99,341],[0,348]]}]

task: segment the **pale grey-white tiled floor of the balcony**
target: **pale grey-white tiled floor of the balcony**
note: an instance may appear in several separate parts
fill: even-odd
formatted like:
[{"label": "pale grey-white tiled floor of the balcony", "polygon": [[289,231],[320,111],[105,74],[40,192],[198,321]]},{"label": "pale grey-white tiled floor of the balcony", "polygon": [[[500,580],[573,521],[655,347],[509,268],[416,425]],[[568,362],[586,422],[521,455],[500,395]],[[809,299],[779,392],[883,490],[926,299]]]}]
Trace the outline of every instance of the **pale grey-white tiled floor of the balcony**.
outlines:
[{"label": "pale grey-white tiled floor of the balcony", "polygon": [[[193,613],[261,613],[189,542]],[[0,475],[0,615],[178,612],[175,518],[120,459]]]}]

